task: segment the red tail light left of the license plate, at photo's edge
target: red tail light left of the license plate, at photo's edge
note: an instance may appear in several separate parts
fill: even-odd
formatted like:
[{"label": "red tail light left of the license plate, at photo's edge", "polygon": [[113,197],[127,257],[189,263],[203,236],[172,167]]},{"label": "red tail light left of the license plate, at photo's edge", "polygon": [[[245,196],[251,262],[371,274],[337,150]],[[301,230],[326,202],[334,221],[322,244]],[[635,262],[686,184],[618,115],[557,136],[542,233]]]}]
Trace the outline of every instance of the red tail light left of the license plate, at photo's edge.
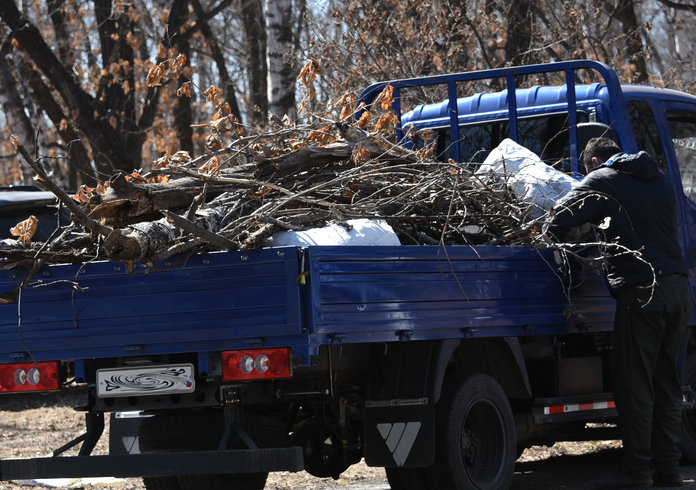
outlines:
[{"label": "red tail light left of the license plate, at photo's edge", "polygon": [[58,361],[0,364],[0,393],[60,390]]}]

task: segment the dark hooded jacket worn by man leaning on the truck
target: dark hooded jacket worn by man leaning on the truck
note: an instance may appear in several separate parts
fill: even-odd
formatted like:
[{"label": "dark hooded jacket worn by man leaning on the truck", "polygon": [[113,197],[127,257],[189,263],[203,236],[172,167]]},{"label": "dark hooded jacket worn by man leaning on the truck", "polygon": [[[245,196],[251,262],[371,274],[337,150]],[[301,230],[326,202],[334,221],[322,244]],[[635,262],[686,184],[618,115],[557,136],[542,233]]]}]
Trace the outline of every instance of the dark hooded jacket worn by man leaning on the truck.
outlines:
[{"label": "dark hooded jacket worn by man leaning on the truck", "polygon": [[644,151],[615,155],[588,174],[554,211],[549,230],[557,237],[563,239],[584,223],[604,222],[608,225],[602,227],[604,241],[640,251],[652,265],[651,270],[633,254],[608,250],[607,281],[613,290],[647,286],[655,276],[687,272],[679,246],[674,190]]}]

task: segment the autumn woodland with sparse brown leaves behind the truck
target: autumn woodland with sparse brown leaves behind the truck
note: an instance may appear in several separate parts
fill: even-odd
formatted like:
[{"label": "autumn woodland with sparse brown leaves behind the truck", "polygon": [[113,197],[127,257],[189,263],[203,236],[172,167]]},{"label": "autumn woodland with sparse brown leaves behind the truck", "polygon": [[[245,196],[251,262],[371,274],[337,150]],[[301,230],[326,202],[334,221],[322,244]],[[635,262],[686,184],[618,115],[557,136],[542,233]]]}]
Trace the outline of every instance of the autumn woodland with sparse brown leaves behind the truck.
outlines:
[{"label": "autumn woodland with sparse brown leaves behind the truck", "polygon": [[[694,91],[695,15],[692,0],[3,0],[0,131],[76,189],[378,80],[591,58]],[[29,182],[3,153],[0,184]]]}]

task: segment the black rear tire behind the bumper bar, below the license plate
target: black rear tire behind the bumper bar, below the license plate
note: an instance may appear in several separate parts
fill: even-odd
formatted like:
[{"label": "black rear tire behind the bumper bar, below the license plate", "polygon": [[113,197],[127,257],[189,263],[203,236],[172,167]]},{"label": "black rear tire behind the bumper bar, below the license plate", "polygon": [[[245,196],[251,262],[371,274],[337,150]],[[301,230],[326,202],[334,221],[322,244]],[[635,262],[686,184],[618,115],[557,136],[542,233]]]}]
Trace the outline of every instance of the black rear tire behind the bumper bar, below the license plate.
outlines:
[{"label": "black rear tire behind the bumper bar, below the license plate", "polygon": [[[164,412],[143,419],[139,430],[140,451],[207,451],[215,450],[223,433],[220,410]],[[245,427],[259,447],[285,445],[287,433],[281,421],[248,414]],[[221,475],[180,475],[143,478],[148,490],[262,490],[268,473]]]}]

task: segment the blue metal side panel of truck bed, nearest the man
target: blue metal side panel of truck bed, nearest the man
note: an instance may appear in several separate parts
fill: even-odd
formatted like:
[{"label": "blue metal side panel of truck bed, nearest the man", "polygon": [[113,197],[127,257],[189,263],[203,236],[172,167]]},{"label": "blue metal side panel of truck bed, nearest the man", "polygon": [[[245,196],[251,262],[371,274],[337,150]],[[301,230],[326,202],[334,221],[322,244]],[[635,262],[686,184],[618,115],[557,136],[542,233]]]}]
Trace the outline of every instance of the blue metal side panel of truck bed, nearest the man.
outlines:
[{"label": "blue metal side panel of truck bed, nearest the man", "polygon": [[564,275],[549,250],[315,247],[308,254],[313,343],[395,341],[405,332],[410,340],[564,334],[613,324],[602,276]]}]

